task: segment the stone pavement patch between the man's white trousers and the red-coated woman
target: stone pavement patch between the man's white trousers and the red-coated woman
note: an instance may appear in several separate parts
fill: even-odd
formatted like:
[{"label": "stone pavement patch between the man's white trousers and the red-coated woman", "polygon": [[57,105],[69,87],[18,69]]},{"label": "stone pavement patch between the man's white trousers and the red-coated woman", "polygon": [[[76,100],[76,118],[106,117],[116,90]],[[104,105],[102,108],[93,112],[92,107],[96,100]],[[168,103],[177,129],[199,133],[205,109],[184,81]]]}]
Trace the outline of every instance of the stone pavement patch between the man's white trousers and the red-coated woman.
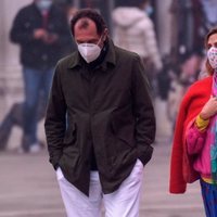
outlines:
[{"label": "stone pavement patch between the man's white trousers and the red-coated woman", "polygon": [[189,184],[184,194],[168,193],[170,141],[157,139],[145,167],[141,217],[204,217],[199,182]]}]

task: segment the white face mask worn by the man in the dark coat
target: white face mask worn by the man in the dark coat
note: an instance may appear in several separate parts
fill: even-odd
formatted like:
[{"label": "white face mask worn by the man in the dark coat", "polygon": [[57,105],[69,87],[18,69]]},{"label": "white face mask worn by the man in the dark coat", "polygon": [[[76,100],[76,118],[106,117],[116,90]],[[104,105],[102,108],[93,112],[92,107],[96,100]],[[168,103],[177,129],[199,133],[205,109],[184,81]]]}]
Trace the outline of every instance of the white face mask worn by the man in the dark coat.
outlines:
[{"label": "white face mask worn by the man in the dark coat", "polygon": [[101,53],[101,48],[95,43],[79,43],[78,51],[87,63],[97,60]]}]

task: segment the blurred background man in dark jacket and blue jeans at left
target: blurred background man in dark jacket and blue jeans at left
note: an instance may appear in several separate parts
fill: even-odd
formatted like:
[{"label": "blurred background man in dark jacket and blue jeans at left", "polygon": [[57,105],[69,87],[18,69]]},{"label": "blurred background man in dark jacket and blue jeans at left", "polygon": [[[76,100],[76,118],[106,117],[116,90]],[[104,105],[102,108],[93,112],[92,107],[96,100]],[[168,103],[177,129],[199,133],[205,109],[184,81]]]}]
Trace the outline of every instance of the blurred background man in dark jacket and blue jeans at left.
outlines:
[{"label": "blurred background man in dark jacket and blue jeans at left", "polygon": [[41,101],[47,102],[54,65],[71,40],[67,18],[52,0],[34,0],[18,11],[10,38],[21,46],[25,86],[25,102],[21,103],[24,107],[23,151],[37,152],[40,150],[37,111]]}]

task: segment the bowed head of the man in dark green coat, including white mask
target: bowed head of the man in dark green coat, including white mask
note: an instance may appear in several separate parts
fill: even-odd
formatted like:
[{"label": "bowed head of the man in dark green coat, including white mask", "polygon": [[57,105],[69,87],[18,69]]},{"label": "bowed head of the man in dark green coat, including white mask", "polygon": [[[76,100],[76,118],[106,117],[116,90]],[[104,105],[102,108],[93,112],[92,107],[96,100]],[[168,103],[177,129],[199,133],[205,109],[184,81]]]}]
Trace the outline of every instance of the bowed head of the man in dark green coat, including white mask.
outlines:
[{"label": "bowed head of the man in dark green coat, including white mask", "polygon": [[94,10],[79,10],[71,21],[71,30],[78,50],[86,62],[94,61],[107,38],[107,27]]}]

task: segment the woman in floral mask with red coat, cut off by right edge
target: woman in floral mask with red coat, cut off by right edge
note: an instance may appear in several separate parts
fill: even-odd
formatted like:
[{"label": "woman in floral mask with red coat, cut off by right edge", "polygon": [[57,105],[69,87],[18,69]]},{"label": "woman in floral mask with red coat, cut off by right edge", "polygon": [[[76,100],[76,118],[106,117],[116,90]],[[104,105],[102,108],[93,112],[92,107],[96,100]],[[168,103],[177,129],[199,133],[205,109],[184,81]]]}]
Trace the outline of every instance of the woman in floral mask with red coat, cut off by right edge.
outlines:
[{"label": "woman in floral mask with red coat, cut off by right edge", "polygon": [[201,182],[206,216],[217,217],[217,28],[205,38],[208,77],[194,82],[182,99],[171,152],[171,193]]}]

